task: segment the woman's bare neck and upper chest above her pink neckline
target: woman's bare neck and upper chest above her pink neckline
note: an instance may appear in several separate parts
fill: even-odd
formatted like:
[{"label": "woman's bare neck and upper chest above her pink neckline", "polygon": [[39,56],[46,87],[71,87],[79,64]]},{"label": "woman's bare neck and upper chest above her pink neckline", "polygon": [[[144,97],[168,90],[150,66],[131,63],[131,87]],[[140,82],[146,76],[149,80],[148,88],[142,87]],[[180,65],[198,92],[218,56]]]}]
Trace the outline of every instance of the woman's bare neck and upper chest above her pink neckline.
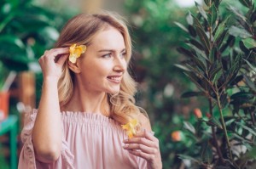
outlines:
[{"label": "woman's bare neck and upper chest above her pink neckline", "polygon": [[63,106],[63,111],[98,113],[110,116],[107,93],[92,92],[86,90],[82,85],[75,85],[74,83],[73,96],[71,98],[72,99]]}]

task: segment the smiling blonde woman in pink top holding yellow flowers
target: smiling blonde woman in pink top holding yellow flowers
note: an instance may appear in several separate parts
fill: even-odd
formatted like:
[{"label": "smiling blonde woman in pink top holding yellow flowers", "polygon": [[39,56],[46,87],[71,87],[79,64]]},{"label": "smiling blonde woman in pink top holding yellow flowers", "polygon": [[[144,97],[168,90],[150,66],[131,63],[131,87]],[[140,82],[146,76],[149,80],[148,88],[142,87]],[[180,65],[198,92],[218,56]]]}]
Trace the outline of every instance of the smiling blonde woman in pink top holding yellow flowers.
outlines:
[{"label": "smiling blonde woman in pink top holding yellow flowers", "polygon": [[161,168],[158,139],[133,98],[130,59],[117,14],[69,20],[39,59],[42,96],[21,133],[19,168]]}]

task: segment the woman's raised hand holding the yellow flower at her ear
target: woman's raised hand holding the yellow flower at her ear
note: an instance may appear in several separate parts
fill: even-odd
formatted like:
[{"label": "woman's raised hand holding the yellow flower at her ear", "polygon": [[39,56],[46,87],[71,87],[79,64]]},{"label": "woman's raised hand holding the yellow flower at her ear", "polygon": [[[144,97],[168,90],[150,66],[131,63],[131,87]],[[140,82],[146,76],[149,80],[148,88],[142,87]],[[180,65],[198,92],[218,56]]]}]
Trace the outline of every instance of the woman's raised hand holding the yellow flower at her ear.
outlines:
[{"label": "woman's raised hand holding the yellow flower at her ear", "polygon": [[44,78],[53,77],[56,78],[56,80],[59,80],[61,77],[62,65],[64,65],[68,54],[68,48],[52,48],[46,50],[44,55],[38,60]]}]

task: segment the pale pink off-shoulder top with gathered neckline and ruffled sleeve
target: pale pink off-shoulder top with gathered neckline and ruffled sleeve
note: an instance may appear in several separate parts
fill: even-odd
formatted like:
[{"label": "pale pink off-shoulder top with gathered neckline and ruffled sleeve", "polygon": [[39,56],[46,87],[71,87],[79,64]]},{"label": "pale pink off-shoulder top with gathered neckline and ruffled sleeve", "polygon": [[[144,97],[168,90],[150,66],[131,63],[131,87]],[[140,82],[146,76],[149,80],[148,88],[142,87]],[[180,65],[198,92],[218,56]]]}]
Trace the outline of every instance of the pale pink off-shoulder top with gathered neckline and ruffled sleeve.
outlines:
[{"label": "pale pink off-shoulder top with gathered neckline and ruffled sleeve", "polygon": [[47,164],[35,158],[32,128],[37,110],[27,113],[21,132],[19,169],[143,169],[147,161],[123,149],[125,131],[117,121],[95,113],[63,112],[59,159]]}]

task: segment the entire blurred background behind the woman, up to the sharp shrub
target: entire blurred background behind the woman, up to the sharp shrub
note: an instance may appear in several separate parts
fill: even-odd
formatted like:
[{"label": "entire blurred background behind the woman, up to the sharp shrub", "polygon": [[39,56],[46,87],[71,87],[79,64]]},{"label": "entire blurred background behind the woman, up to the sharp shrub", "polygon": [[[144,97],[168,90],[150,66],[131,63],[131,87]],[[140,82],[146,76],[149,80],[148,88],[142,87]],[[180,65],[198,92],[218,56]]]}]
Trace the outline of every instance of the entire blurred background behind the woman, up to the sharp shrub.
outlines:
[{"label": "entire blurred background behind the woman, up to the sharp shrub", "polygon": [[8,104],[1,105],[0,114],[1,169],[17,167],[24,112],[38,106],[42,86],[38,58],[53,47],[69,18],[98,8],[117,11],[130,23],[137,104],[147,110],[160,139],[164,168],[184,168],[177,154],[193,151],[191,143],[173,142],[171,133],[183,121],[196,120],[195,108],[206,113],[204,99],[181,99],[182,93],[195,90],[195,84],[175,66],[183,60],[177,47],[186,39],[175,21],[185,24],[186,14],[195,13],[194,0],[0,0],[0,105]]}]

